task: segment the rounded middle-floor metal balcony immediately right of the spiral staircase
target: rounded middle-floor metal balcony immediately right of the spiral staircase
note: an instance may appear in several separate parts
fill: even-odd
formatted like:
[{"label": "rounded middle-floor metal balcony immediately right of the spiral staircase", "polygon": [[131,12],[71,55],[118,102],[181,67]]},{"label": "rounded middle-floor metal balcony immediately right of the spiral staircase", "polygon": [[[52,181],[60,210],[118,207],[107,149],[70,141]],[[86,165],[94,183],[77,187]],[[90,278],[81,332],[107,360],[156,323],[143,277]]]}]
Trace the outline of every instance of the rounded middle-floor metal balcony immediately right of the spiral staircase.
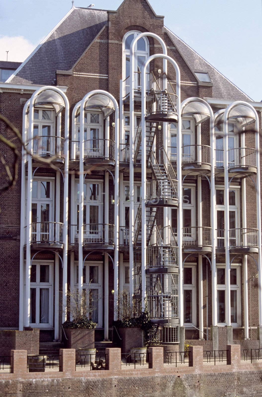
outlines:
[{"label": "rounded middle-floor metal balcony immediately right of the spiral staircase", "polygon": [[212,227],[183,227],[184,252],[212,252]]}]

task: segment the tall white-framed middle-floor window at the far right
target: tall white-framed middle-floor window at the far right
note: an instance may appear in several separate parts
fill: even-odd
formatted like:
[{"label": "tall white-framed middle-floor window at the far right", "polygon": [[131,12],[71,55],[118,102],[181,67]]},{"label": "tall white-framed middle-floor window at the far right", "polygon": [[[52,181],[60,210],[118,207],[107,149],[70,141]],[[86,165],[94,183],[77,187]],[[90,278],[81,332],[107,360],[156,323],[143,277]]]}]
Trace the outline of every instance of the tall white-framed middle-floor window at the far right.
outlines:
[{"label": "tall white-framed middle-floor window at the far right", "polygon": [[[217,213],[217,247],[225,247],[225,191],[223,187],[215,188],[215,208]],[[235,186],[229,189],[229,245],[235,246],[238,239],[239,227],[239,189]]]}]

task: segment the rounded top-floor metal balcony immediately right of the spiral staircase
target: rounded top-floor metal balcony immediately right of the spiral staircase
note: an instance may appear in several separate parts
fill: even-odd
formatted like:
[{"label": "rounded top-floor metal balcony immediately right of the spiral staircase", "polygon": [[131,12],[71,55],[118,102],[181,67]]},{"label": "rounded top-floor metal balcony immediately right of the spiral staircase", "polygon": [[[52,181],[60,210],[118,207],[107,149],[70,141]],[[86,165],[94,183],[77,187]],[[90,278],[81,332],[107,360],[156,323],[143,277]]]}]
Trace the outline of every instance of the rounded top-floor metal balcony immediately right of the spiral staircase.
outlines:
[{"label": "rounded top-floor metal balcony immediately right of the spiral staircase", "polygon": [[198,171],[210,172],[211,147],[207,145],[182,146],[182,170],[190,171],[192,175],[197,174]]}]

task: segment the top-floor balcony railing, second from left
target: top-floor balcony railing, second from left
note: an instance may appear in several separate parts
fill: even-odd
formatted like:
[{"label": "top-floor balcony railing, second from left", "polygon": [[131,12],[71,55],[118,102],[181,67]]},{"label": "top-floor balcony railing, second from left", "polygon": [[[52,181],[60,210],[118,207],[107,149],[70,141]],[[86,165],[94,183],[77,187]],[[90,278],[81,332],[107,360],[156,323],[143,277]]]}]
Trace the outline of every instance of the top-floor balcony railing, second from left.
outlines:
[{"label": "top-floor balcony railing, second from left", "polygon": [[[111,139],[88,139],[84,141],[84,159],[103,158],[115,160],[115,141]],[[80,159],[80,142],[71,141],[70,160]]]}]

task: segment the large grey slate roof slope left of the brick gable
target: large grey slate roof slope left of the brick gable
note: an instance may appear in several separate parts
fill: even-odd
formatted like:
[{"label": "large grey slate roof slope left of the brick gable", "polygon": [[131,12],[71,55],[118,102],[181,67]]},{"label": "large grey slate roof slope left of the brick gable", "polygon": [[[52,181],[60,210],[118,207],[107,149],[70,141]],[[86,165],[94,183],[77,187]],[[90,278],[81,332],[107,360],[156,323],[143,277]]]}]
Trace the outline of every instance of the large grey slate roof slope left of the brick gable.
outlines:
[{"label": "large grey slate roof slope left of the brick gable", "polygon": [[8,79],[8,83],[54,85],[56,70],[69,70],[107,23],[107,11],[75,8]]}]

